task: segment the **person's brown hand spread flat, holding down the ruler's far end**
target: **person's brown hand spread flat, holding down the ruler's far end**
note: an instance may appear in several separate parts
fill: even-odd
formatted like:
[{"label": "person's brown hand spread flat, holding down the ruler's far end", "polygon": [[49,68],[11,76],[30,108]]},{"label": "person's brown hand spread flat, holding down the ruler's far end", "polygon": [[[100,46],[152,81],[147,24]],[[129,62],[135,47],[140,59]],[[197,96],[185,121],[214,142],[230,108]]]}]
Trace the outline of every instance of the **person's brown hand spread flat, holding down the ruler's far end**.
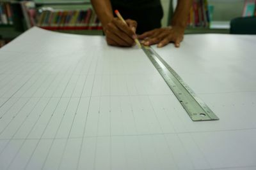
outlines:
[{"label": "person's brown hand spread flat, holding down the ruler's far end", "polygon": [[145,32],[138,38],[143,39],[141,43],[147,46],[157,44],[157,47],[163,47],[172,42],[175,47],[179,47],[180,42],[183,40],[184,30],[184,27],[178,26],[159,28]]}]

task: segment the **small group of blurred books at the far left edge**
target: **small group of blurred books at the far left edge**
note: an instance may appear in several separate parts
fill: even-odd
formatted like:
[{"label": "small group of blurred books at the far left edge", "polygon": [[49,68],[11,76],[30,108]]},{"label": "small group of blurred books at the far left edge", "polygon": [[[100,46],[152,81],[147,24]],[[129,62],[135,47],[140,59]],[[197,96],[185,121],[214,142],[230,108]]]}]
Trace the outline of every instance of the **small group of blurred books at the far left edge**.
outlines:
[{"label": "small group of blurred books at the far left edge", "polygon": [[13,25],[13,11],[10,3],[0,2],[0,25]]}]

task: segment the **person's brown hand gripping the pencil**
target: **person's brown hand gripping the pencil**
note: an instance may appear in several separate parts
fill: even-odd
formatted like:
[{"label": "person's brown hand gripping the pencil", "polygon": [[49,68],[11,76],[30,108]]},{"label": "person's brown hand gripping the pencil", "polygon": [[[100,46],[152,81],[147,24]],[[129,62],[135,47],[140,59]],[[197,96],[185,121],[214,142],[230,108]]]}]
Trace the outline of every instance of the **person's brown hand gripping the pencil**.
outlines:
[{"label": "person's brown hand gripping the pencil", "polygon": [[106,41],[108,45],[113,46],[133,46],[135,45],[134,39],[137,38],[135,32],[137,22],[134,20],[125,20],[127,24],[122,22],[119,18],[113,18],[104,27],[106,34]]}]

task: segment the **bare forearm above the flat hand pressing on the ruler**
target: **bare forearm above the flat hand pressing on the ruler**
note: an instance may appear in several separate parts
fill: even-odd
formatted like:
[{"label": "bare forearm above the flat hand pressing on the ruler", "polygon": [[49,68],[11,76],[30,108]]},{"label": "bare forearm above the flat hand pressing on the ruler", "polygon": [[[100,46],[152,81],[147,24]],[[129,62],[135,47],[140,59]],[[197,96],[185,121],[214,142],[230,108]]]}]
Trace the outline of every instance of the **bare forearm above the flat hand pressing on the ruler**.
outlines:
[{"label": "bare forearm above the flat hand pressing on the ruler", "polygon": [[172,26],[186,28],[192,3],[193,0],[178,0],[177,8],[172,18]]}]

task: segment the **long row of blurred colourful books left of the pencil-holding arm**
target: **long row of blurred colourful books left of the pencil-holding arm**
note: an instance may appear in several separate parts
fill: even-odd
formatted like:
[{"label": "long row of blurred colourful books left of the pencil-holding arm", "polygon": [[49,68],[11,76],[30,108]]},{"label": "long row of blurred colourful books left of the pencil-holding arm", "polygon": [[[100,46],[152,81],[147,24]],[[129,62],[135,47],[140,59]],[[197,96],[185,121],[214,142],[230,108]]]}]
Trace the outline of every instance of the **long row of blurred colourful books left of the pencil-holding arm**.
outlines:
[{"label": "long row of blurred colourful books left of the pencil-holding arm", "polygon": [[92,10],[58,10],[51,7],[35,8],[32,1],[22,1],[22,11],[28,28],[34,25],[49,30],[102,30]]}]

